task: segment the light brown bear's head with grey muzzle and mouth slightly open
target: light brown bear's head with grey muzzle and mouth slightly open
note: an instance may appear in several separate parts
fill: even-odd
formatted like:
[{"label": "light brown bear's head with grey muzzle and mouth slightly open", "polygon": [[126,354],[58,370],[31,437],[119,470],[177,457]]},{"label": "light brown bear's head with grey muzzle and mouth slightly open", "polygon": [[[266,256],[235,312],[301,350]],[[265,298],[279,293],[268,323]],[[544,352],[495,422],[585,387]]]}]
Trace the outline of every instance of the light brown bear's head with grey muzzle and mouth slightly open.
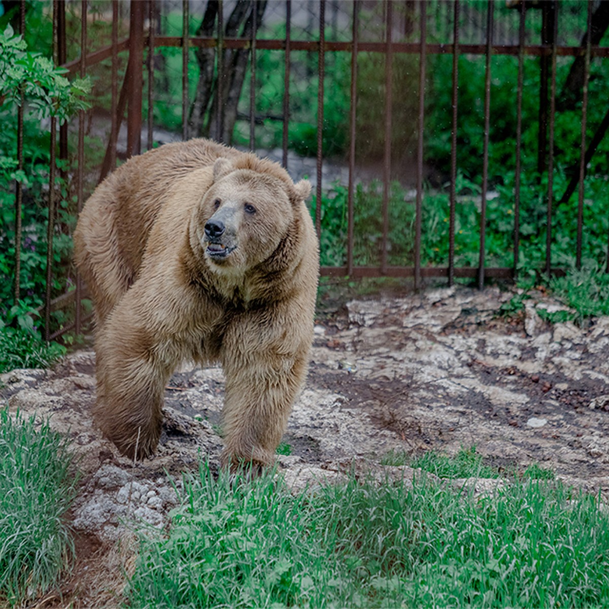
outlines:
[{"label": "light brown bear's head with grey muzzle and mouth slightly open", "polygon": [[214,163],[213,183],[195,209],[198,244],[219,273],[245,273],[271,258],[301,217],[311,192],[276,163],[255,155]]}]

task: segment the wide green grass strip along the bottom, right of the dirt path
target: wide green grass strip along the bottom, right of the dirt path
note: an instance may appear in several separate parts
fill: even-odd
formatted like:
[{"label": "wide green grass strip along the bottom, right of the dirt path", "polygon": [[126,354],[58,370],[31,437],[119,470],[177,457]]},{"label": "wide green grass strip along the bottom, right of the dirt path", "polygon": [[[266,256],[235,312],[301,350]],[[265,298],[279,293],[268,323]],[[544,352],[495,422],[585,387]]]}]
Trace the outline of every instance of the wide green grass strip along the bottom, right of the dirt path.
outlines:
[{"label": "wide green grass strip along the bottom, right of the dirt path", "polygon": [[272,476],[186,479],[169,530],[146,531],[130,607],[609,605],[609,518],[549,481],[474,498],[347,482],[292,495]]}]

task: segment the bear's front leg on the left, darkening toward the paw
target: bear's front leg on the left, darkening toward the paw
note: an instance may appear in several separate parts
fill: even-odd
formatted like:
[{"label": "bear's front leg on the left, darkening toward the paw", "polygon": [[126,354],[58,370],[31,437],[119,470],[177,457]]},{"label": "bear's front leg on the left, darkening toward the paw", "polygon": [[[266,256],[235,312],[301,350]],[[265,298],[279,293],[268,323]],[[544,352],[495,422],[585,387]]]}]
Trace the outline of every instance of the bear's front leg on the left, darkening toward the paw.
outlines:
[{"label": "bear's front leg on the left, darkening toward the paw", "polygon": [[[143,459],[157,448],[163,392],[171,367],[144,328],[111,315],[96,338],[96,423],[127,457]],[[166,358],[164,358],[166,359]]]}]

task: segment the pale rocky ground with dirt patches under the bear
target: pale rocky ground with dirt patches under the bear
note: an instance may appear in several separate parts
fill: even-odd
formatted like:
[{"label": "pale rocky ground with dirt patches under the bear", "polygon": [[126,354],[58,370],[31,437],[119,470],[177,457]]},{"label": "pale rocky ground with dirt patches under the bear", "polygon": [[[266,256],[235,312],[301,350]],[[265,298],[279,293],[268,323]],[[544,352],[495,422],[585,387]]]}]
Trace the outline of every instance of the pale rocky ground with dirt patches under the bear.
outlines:
[{"label": "pale rocky ground with dirt patches under the bear", "polygon": [[[512,296],[439,289],[353,300],[320,317],[308,381],[284,437],[290,454],[279,457],[290,484],[333,479],[353,460],[373,465],[390,451],[453,454],[475,445],[490,464],[539,463],[607,498],[609,318],[585,329],[550,325],[538,311],[559,305],[541,294],[515,319],[498,317]],[[12,412],[50,417],[80,459],[71,514],[77,566],[64,598],[115,606],[133,566],[134,523],[163,526],[181,474],[200,456],[217,467],[222,370],[186,366],[172,376],[158,454],[141,463],[119,456],[93,426],[93,351],[0,382]]]}]

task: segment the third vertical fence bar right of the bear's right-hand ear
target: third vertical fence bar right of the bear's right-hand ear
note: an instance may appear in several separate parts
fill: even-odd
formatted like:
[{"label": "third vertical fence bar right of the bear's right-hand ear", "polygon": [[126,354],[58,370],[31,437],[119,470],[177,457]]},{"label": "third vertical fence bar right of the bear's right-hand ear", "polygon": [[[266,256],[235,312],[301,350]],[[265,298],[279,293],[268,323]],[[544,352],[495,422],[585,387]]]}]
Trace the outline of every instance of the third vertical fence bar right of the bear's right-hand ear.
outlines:
[{"label": "third vertical fence bar right of the bear's right-hand ear", "polygon": [[393,105],[393,2],[385,0],[385,150],[382,180],[381,274],[387,274],[389,234],[389,184],[391,181],[391,124]]}]

